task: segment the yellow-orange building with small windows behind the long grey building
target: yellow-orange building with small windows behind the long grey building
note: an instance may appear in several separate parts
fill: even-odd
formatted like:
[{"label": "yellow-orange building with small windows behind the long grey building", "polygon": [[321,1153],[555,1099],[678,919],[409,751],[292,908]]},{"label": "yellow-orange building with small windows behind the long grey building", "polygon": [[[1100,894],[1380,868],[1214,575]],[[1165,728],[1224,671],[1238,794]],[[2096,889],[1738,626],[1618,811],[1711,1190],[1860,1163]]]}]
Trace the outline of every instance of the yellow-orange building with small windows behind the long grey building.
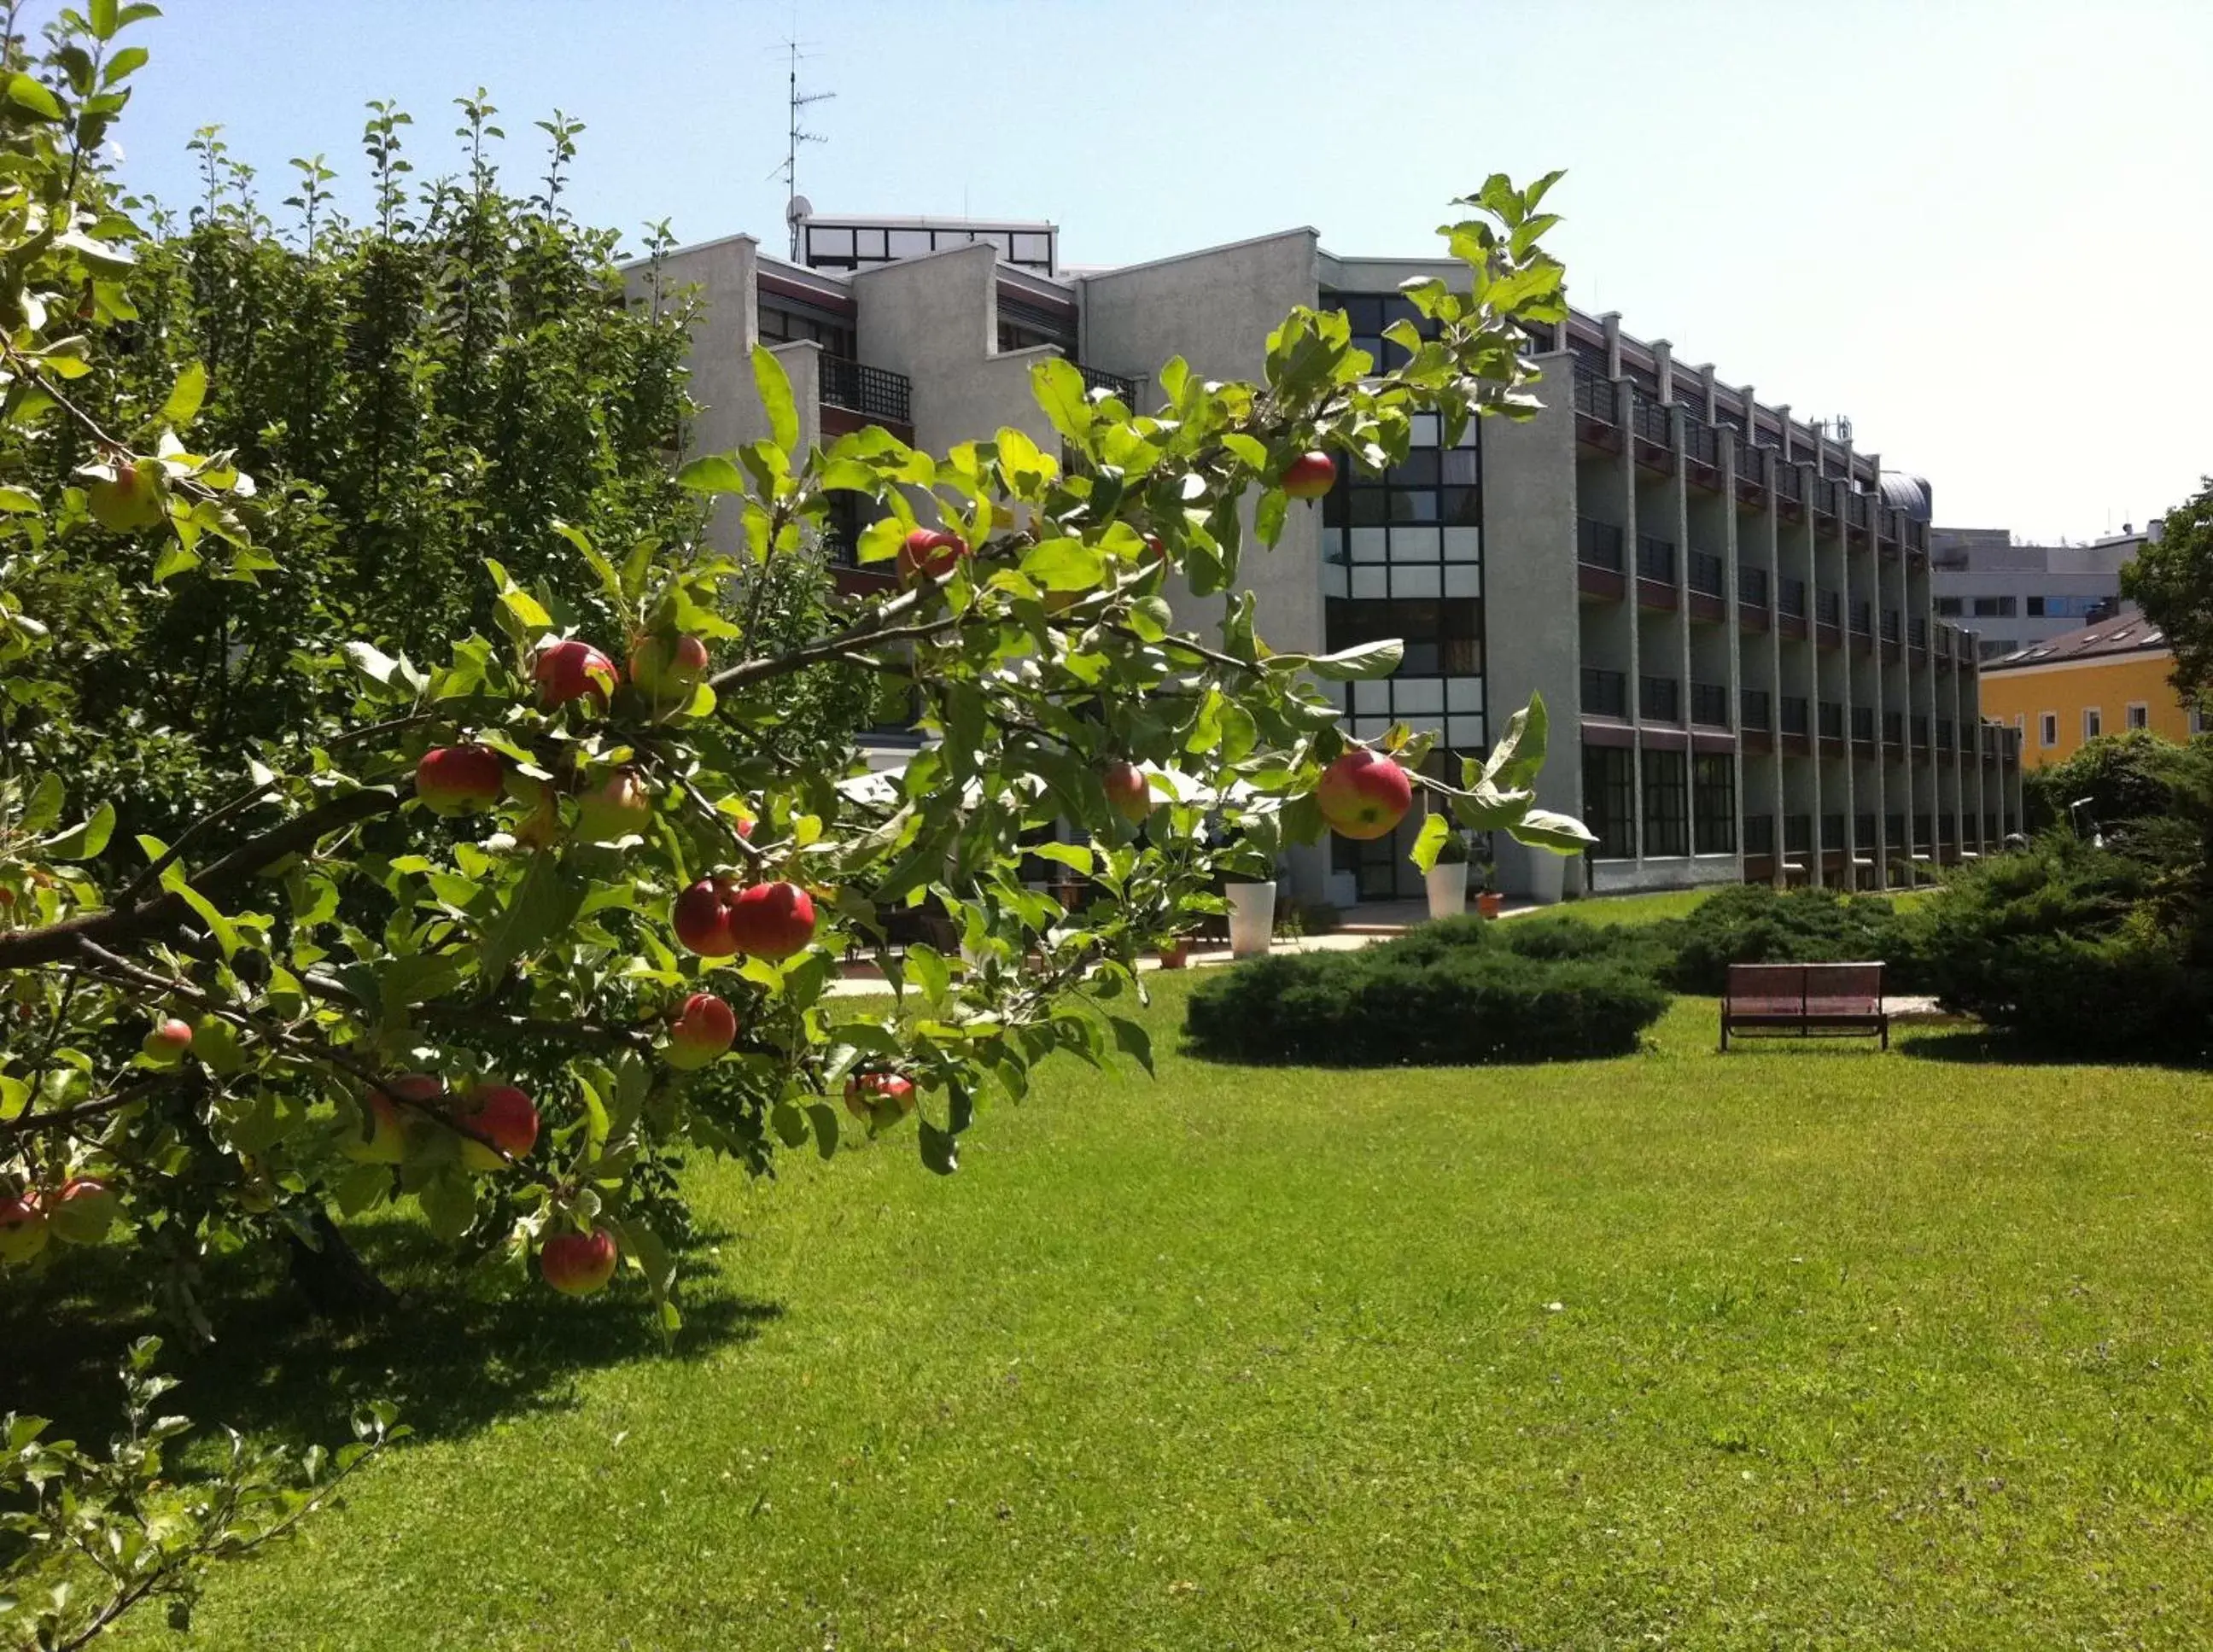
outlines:
[{"label": "yellow-orange building with small windows behind the long grey building", "polygon": [[2098,734],[2149,728],[2186,741],[2204,712],[2169,679],[2175,655],[2140,613],[2045,637],[1983,661],[1983,717],[2020,730],[2020,767],[2058,763]]}]

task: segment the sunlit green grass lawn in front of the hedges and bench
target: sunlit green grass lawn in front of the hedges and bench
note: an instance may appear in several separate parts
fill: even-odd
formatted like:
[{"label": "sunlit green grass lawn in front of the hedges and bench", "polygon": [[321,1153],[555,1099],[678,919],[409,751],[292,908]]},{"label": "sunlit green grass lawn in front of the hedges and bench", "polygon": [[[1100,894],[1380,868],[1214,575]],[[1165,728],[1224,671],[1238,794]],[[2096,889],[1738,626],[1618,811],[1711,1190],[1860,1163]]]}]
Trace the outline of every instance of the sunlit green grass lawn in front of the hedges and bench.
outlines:
[{"label": "sunlit green grass lawn in front of the hedges and bench", "polygon": [[2213,1639],[2213,1079],[1713,1024],[1538,1070],[1062,1064],[952,1181],[912,1137],[702,1168],[673,1356],[544,1296],[235,1334],[188,1409],[325,1433],[383,1391],[423,1440],[217,1572],[197,1643]]}]

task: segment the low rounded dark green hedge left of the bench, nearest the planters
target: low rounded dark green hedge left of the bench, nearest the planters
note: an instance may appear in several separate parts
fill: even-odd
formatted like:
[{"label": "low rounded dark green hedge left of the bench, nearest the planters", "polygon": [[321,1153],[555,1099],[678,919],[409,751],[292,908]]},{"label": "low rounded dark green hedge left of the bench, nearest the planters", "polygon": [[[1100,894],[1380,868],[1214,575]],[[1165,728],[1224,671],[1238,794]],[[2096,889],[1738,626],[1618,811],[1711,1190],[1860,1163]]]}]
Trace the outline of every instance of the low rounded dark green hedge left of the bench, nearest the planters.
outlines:
[{"label": "low rounded dark green hedge left of the bench, nearest the planters", "polygon": [[[1578,931],[1569,935],[1567,931]],[[1199,1055],[1463,1066],[1627,1055],[1666,1013],[1651,953],[1573,922],[1447,918],[1350,953],[1257,958],[1202,982]]]}]

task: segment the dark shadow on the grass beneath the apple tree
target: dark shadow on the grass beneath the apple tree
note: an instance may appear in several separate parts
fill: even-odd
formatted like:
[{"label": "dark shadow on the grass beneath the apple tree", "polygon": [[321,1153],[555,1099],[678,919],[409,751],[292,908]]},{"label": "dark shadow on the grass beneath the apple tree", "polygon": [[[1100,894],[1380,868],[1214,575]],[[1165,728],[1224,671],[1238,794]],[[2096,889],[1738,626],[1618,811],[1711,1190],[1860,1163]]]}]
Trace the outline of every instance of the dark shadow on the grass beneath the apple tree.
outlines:
[{"label": "dark shadow on the grass beneath the apple tree", "polygon": [[[197,1424],[248,1435],[336,1444],[347,1418],[389,1400],[418,1437],[449,1440],[500,1418],[575,1404],[571,1378],[631,1360],[697,1360],[750,1342],[783,1314],[713,1289],[708,1269],[684,1267],[677,1303],[684,1327],[659,1336],[635,1272],[593,1298],[567,1298],[500,1276],[493,1289],[412,1221],[361,1221],[347,1236],[401,1292],[381,1318],[316,1318],[270,1252],[221,1258],[201,1300],[212,1345],[162,1320],[148,1298],[148,1256],[115,1243],[73,1252],[44,1278],[0,1294],[0,1411],[53,1418],[55,1433],[106,1440],[120,1420],[115,1367],[146,1334],[164,1340],[162,1369],[181,1378],[170,1402]],[[728,1234],[697,1234],[688,1250]]]}]

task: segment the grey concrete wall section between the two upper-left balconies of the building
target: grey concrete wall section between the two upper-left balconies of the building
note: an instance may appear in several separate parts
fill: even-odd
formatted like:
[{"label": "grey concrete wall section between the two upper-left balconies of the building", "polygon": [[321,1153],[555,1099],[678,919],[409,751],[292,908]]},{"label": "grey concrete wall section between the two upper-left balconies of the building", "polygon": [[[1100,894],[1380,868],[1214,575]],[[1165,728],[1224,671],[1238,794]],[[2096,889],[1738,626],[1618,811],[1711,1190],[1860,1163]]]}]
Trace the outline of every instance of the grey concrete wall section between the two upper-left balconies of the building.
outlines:
[{"label": "grey concrete wall section between the two upper-left balconies of the building", "polygon": [[856,349],[870,367],[912,383],[914,445],[943,453],[1014,425],[1049,453],[1060,438],[1029,394],[1031,363],[1049,349],[998,354],[998,254],[987,243],[861,270]]}]

